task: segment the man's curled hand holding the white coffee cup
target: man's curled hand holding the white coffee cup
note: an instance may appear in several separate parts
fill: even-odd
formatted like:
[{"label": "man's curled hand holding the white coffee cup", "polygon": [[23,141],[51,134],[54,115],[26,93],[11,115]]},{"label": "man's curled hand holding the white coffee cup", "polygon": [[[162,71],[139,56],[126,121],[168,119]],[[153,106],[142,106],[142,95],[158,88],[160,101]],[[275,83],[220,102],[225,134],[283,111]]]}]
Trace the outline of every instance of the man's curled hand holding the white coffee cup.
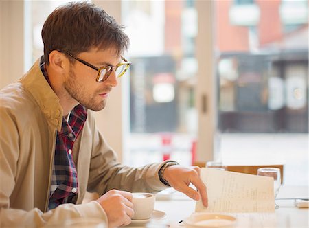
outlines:
[{"label": "man's curled hand holding the white coffee cup", "polygon": [[120,227],[131,223],[134,215],[132,193],[110,190],[98,198],[98,203],[106,212],[108,227]]}]

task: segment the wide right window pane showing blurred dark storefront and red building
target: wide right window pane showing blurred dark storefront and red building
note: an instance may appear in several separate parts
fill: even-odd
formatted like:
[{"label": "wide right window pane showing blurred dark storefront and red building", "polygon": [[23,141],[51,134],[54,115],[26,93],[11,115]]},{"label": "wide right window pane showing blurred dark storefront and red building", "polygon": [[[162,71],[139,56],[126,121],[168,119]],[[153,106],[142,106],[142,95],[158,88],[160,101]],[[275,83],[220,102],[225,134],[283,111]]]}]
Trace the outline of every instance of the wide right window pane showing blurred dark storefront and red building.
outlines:
[{"label": "wide right window pane showing blurred dark storefront and red building", "polygon": [[245,2],[214,1],[217,157],[284,163],[284,183],[306,185],[308,1]]}]

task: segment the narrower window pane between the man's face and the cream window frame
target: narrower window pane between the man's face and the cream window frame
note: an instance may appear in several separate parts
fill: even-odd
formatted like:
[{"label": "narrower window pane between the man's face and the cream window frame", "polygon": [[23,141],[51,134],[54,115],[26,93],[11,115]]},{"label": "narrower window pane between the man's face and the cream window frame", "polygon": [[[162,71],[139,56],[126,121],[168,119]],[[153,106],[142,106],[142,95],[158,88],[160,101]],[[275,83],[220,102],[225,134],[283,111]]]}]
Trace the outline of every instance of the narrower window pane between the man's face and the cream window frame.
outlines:
[{"label": "narrower window pane between the man's face and the cream window frame", "polygon": [[122,1],[131,41],[130,165],[169,158],[191,164],[197,128],[193,3]]}]

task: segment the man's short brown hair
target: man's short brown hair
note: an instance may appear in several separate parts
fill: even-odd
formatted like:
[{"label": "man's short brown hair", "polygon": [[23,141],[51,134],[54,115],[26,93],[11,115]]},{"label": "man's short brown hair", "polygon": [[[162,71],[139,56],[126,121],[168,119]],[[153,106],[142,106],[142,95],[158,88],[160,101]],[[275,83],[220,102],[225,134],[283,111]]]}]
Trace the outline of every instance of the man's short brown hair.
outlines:
[{"label": "man's short brown hair", "polygon": [[128,49],[129,38],[113,16],[87,1],[67,3],[50,14],[42,29],[44,58],[49,64],[49,54],[62,50],[79,54],[91,47],[114,47],[120,55]]}]

